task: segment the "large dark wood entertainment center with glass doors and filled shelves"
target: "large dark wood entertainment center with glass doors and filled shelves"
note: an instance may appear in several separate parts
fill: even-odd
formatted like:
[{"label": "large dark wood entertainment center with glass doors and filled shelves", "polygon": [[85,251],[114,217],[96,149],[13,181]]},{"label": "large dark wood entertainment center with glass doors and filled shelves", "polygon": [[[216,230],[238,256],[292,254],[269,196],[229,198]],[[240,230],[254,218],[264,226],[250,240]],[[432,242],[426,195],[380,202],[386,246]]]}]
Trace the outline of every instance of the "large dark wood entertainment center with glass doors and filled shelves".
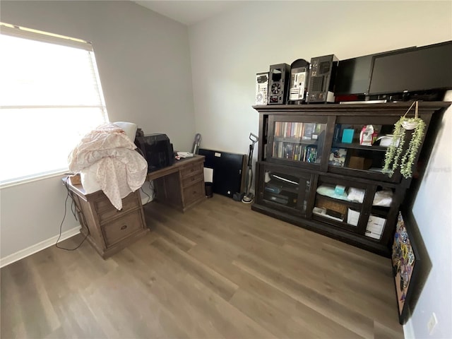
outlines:
[{"label": "large dark wood entertainment center with glass doors and filled shelves", "polygon": [[[390,256],[398,211],[412,178],[405,179],[398,170],[393,177],[383,174],[387,147],[360,145],[359,132],[371,124],[379,136],[390,134],[411,103],[254,106],[259,143],[251,208]],[[427,125],[424,153],[449,105],[420,102],[420,117]],[[350,133],[348,140],[344,130]]]}]

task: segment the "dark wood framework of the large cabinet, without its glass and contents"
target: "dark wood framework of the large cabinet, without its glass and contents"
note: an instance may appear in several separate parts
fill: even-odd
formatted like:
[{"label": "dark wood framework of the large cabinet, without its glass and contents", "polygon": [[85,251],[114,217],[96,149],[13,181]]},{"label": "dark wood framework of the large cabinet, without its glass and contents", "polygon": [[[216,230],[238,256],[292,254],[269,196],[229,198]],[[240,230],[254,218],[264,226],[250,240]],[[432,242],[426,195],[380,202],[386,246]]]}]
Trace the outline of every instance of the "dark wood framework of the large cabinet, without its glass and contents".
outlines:
[{"label": "dark wood framework of the large cabinet, without its glass and contents", "polygon": [[[359,150],[369,150],[359,145],[343,145],[341,143],[333,143],[333,134],[335,124],[369,124],[369,121],[378,121],[378,124],[389,125],[394,124],[399,117],[407,112],[412,102],[391,102],[381,104],[350,104],[350,105],[266,105],[253,106],[259,112],[259,138],[258,146],[258,162],[256,162],[256,199],[251,206],[253,210],[259,213],[270,215],[273,218],[285,220],[299,227],[307,228],[314,232],[325,234],[342,242],[361,247],[373,251],[383,256],[391,254],[391,244],[393,239],[393,231],[396,225],[398,210],[404,201],[405,192],[410,187],[412,179],[404,179],[400,172],[396,172],[393,177],[389,178],[378,172],[369,172],[361,169],[352,169],[346,167],[334,167],[328,165],[328,157],[332,147],[355,148]],[[446,107],[451,102],[420,102],[420,117],[427,125],[427,133],[424,141],[427,139],[429,143],[436,137],[435,131],[429,128],[430,121],[434,114],[444,113]],[[321,153],[320,164],[301,163],[295,160],[287,160],[283,158],[272,157],[273,147],[273,122],[274,121],[314,121],[318,123],[326,123],[326,136],[324,140],[323,151]],[[375,122],[374,122],[375,123]],[[406,141],[407,145],[409,138]],[[386,148],[379,146],[371,146],[373,152],[386,152]],[[419,159],[420,153],[417,155],[416,161]],[[293,208],[285,208],[274,203],[264,203],[263,191],[265,182],[263,173],[266,170],[281,171],[293,174],[295,177],[310,176],[310,188],[307,193],[307,210],[304,215],[297,213]],[[366,190],[364,201],[362,203],[345,203],[345,206],[355,206],[360,208],[360,216],[357,227],[347,225],[346,222],[338,222],[335,220],[326,220],[321,216],[314,215],[312,210],[316,203],[316,189],[322,179],[328,182],[337,182],[337,184],[346,184],[356,187],[362,187]],[[393,191],[393,201],[389,207],[373,206],[373,200],[376,191],[379,188],[391,189]],[[300,196],[299,196],[300,197]],[[386,225],[381,239],[367,237],[365,234],[367,229],[367,220],[369,215],[382,216],[386,218]]]}]

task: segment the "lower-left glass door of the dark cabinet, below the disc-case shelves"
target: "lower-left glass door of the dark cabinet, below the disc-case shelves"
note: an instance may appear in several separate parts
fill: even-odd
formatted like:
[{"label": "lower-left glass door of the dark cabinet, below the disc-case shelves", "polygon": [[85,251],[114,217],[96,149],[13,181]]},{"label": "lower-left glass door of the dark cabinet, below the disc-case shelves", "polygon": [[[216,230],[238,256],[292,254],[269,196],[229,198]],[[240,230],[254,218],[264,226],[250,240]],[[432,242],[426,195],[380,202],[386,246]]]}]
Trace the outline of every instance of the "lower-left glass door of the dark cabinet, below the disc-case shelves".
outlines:
[{"label": "lower-left glass door of the dark cabinet, below the disc-case shelves", "polygon": [[259,203],[290,211],[292,215],[306,215],[311,174],[271,165],[260,165],[259,171],[262,178],[258,188]]}]

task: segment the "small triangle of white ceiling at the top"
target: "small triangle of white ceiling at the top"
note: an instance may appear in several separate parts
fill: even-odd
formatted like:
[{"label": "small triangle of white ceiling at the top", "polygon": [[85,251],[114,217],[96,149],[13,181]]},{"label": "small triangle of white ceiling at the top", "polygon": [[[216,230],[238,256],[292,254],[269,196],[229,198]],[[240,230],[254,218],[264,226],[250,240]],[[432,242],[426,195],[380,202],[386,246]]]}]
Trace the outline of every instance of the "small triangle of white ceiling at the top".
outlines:
[{"label": "small triangle of white ceiling at the top", "polygon": [[193,25],[226,11],[242,1],[179,1],[179,0],[132,0],[162,16],[167,16],[184,25]]}]

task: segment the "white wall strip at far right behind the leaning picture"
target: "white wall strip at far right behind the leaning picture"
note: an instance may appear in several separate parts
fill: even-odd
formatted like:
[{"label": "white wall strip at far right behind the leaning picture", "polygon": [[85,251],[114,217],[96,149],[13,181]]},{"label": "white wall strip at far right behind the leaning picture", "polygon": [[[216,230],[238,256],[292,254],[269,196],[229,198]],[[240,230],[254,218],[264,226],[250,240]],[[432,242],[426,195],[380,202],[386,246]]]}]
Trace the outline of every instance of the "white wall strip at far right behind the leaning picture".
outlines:
[{"label": "white wall strip at far right behind the leaning picture", "polygon": [[[446,100],[452,101],[452,92]],[[413,206],[413,214],[433,263],[408,323],[414,328],[416,338],[452,338],[452,107],[445,114],[447,117]],[[436,314],[439,326],[429,337],[425,324],[432,312]]]}]

